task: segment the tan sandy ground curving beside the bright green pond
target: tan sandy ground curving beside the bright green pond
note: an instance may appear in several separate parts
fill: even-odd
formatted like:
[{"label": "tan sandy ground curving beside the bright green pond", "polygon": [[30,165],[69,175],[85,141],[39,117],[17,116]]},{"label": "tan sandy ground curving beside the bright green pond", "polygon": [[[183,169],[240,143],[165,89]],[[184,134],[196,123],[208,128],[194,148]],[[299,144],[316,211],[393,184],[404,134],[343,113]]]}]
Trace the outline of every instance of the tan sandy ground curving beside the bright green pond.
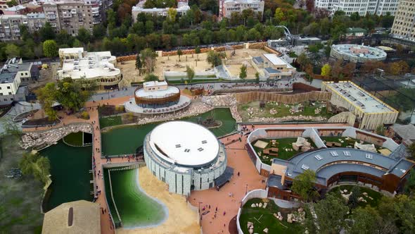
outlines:
[{"label": "tan sandy ground curving beside the bright green pond", "polygon": [[198,214],[186,204],[186,198],[171,194],[167,185],[162,183],[148,171],[148,168],[139,168],[141,188],[151,197],[157,198],[169,210],[167,220],[155,228],[119,229],[117,233],[200,233]]}]

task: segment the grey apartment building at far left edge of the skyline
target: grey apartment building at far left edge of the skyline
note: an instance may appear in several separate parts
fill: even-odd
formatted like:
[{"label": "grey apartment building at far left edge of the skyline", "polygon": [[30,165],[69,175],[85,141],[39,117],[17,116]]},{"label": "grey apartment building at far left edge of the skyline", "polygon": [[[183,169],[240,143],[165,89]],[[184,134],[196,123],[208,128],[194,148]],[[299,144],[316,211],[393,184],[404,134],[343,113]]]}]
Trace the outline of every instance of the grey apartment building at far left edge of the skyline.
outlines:
[{"label": "grey apartment building at far left edge of the skyline", "polygon": [[39,30],[46,23],[43,13],[28,13],[23,15],[0,16],[0,41],[20,39],[20,25],[27,25],[30,32]]}]

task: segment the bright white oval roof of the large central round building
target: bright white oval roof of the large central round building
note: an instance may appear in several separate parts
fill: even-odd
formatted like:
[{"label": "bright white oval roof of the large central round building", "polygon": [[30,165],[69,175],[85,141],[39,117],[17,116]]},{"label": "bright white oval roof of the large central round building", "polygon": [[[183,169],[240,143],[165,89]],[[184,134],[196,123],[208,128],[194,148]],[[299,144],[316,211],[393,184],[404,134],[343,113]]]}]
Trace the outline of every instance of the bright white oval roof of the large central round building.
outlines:
[{"label": "bright white oval roof of the large central round building", "polygon": [[149,143],[160,158],[181,166],[205,166],[219,153],[219,142],[210,130],[185,121],[158,125],[151,132]]}]

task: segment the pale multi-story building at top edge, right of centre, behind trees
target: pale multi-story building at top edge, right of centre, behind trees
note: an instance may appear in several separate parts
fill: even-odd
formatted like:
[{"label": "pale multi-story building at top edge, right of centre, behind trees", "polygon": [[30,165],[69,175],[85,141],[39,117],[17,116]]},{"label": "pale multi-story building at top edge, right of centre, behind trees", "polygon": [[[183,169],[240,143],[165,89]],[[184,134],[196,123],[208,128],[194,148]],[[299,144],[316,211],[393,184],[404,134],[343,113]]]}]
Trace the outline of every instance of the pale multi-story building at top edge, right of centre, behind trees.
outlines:
[{"label": "pale multi-story building at top edge, right of centre, behind trees", "polygon": [[251,9],[254,14],[264,15],[263,0],[219,0],[219,18],[231,18],[233,12],[242,13]]}]

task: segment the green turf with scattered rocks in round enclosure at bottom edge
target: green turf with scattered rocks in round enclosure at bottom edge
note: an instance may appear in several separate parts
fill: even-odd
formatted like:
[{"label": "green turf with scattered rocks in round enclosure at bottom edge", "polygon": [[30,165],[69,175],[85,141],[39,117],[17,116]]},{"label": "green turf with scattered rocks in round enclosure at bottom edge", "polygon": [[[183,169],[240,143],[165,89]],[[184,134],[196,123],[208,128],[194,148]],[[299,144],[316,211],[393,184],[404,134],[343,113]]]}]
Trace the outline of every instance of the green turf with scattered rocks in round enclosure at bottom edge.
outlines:
[{"label": "green turf with scattered rocks in round enclosure at bottom edge", "polygon": [[254,233],[264,233],[264,228],[268,228],[268,233],[300,233],[301,227],[296,223],[288,223],[286,214],[283,214],[283,221],[274,217],[280,208],[272,200],[268,200],[267,208],[250,207],[253,203],[264,204],[261,198],[253,198],[246,202],[241,211],[239,223],[243,233],[249,233],[247,223],[251,222],[254,226]]}]

